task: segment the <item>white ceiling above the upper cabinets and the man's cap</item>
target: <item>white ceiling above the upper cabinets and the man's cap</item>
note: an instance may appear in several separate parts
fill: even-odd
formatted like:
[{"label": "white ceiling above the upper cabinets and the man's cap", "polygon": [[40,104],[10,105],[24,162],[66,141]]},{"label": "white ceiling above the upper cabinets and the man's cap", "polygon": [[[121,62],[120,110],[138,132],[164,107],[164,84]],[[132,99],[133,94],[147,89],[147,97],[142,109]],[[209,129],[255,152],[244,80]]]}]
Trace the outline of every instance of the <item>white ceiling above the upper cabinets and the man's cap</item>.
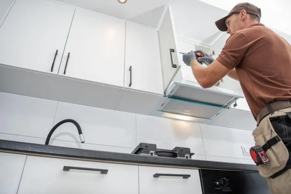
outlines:
[{"label": "white ceiling above the upper cabinets and the man's cap", "polygon": [[[195,42],[211,45],[224,33],[216,28],[214,22],[226,16],[229,10],[240,0],[128,0],[125,4],[120,4],[117,0],[56,1],[154,28],[157,28],[159,24],[164,5],[171,5],[176,34]],[[261,7],[262,23],[276,29],[276,32],[279,32],[280,35],[291,42],[291,22],[287,21],[288,18],[291,19],[291,12],[281,13],[277,8],[284,7],[282,9],[287,10],[291,7],[290,0],[276,0],[276,2],[280,2],[276,5],[276,9],[271,6],[274,3],[266,3],[266,0],[248,1]],[[268,12],[273,14],[265,14]],[[274,14],[276,14],[275,18],[273,18]],[[280,21],[276,21],[279,16],[283,15],[285,20],[280,17]]]}]

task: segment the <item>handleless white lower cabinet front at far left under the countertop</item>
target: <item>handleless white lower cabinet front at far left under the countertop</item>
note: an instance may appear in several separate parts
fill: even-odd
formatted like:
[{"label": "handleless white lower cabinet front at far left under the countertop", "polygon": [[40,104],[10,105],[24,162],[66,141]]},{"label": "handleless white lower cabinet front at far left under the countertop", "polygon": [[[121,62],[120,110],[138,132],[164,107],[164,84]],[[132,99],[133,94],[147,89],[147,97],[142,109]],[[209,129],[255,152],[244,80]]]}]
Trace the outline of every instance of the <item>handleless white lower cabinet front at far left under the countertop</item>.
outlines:
[{"label": "handleless white lower cabinet front at far left under the countertop", "polygon": [[16,194],[26,155],[0,152],[0,193]]}]

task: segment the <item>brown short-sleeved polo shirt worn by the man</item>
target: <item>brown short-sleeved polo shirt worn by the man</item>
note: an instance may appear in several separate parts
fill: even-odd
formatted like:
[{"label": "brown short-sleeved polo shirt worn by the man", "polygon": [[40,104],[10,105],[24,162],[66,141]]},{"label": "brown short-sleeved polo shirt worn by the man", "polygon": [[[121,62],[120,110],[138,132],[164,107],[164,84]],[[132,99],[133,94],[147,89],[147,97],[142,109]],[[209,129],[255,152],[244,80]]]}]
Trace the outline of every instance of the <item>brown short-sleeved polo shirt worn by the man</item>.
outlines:
[{"label": "brown short-sleeved polo shirt worn by the man", "polygon": [[231,34],[216,60],[236,69],[255,119],[267,103],[291,98],[291,45],[263,24]]}]

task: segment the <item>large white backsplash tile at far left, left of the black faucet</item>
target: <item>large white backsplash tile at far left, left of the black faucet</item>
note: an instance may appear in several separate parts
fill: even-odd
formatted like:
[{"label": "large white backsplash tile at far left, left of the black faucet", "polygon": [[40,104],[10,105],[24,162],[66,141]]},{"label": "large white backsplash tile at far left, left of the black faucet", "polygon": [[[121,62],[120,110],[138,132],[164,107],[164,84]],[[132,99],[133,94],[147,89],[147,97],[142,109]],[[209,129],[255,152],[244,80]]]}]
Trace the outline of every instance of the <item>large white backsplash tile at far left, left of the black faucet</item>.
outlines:
[{"label": "large white backsplash tile at far left, left of the black faucet", "polygon": [[46,138],[48,129],[52,128],[57,103],[0,92],[0,133]]}]

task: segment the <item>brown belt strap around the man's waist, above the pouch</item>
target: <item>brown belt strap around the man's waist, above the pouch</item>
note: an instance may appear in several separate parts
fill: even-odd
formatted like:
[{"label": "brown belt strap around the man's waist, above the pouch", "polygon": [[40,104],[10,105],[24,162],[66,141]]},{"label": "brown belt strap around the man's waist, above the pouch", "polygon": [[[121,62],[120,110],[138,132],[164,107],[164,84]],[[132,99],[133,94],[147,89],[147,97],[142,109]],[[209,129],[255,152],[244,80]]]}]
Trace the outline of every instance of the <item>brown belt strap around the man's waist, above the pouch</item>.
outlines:
[{"label": "brown belt strap around the man's waist, above the pouch", "polygon": [[268,114],[274,113],[275,111],[281,110],[281,109],[286,109],[291,107],[291,99],[289,100],[282,100],[282,101],[276,101],[272,102],[270,104],[267,104],[265,108],[263,108],[258,116],[257,116],[257,124],[259,126],[259,122]]}]

